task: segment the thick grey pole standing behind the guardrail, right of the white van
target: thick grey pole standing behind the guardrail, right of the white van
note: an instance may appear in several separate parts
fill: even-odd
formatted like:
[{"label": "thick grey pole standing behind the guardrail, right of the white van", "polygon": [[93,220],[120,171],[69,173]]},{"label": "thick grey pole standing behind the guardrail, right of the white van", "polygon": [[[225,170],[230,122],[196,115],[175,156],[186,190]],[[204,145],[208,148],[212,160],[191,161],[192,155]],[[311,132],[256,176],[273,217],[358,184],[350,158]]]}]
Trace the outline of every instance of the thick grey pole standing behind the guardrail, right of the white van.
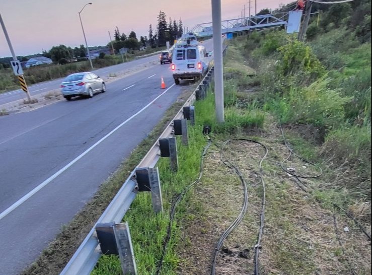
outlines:
[{"label": "thick grey pole standing behind the guardrail, right of the white van", "polygon": [[224,63],[222,62],[221,0],[212,1],[214,94],[217,122],[224,122]]}]

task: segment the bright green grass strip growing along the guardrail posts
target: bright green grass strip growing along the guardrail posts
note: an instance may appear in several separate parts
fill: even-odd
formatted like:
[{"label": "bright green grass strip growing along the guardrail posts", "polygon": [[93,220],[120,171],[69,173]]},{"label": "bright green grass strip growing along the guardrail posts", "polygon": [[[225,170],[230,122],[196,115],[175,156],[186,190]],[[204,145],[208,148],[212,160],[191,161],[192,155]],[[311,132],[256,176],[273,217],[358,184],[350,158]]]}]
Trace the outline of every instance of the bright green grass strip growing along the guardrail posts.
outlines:
[{"label": "bright green grass strip growing along the guardrail posts", "polygon": [[[198,117],[198,116],[197,116]],[[198,118],[197,118],[198,119]],[[201,151],[206,140],[202,127],[189,127],[189,145],[185,147],[177,140],[178,171],[172,172],[169,159],[161,159],[158,167],[162,183],[164,214],[156,215],[152,209],[150,193],[139,193],[123,221],[128,222],[137,264],[137,271],[142,275],[154,274],[163,251],[163,241],[169,223],[169,210],[174,197],[195,180],[199,173]],[[172,238],[164,258],[162,274],[173,275],[182,259],[177,255],[175,246],[179,242],[179,222],[185,215],[187,197],[177,207],[176,221],[172,225]],[[117,256],[102,256],[93,270],[94,275],[116,275],[121,273]]]}]

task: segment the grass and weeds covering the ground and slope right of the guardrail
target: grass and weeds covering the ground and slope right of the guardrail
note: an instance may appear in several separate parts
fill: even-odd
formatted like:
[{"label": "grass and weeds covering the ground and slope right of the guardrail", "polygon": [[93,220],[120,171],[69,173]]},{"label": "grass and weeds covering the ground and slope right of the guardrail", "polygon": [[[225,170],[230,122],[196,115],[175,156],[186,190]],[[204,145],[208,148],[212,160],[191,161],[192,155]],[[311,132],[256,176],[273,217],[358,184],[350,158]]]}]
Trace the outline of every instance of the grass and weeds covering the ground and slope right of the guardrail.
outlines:
[{"label": "grass and weeds covering the ground and slope right of the guardrail", "polygon": [[[210,273],[216,243],[243,202],[239,176],[220,160],[221,145],[241,138],[268,147],[261,170],[265,185],[258,169],[262,147],[233,141],[226,158],[246,179],[249,206],[218,254],[216,273],[253,272],[263,186],[260,274],[371,273],[370,237],[348,217],[370,236],[371,42],[364,24],[370,20],[370,13],[364,14],[370,3],[357,3],[342,6],[348,12],[341,23],[332,17],[339,8],[325,10],[319,25],[316,19],[311,23],[307,42],[284,31],[253,32],[230,41],[224,68],[225,122],[215,121],[210,87],[206,99],[195,102],[196,123],[189,125],[188,147],[178,140],[178,172],[170,170],[168,159],[158,163],[164,213],[155,215],[151,195],[140,193],[123,218],[130,227],[139,274]],[[314,26],[318,31],[313,31]],[[201,154],[208,144],[202,133],[206,125],[212,130],[213,144],[202,163],[204,176],[178,204],[164,250],[171,205],[199,175]],[[286,160],[290,149],[283,137],[300,157]],[[319,167],[323,174],[315,177]],[[308,178],[299,180],[288,168]],[[128,174],[127,166],[124,170],[121,177],[113,178],[115,186]],[[49,249],[45,254],[59,253]],[[41,259],[37,264],[42,263]],[[92,274],[121,274],[117,256],[102,256]]]}]

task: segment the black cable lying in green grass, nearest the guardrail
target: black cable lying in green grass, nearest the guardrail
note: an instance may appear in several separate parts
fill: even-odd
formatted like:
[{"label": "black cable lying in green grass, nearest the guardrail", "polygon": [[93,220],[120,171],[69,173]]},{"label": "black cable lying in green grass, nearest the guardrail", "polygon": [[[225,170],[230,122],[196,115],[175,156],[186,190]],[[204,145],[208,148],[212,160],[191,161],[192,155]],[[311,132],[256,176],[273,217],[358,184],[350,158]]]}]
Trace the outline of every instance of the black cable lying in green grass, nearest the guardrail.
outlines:
[{"label": "black cable lying in green grass, nearest the guardrail", "polygon": [[167,252],[167,246],[168,246],[168,243],[169,241],[171,240],[171,236],[172,236],[172,223],[174,221],[174,217],[176,215],[176,208],[177,208],[177,205],[178,203],[181,201],[181,199],[183,198],[183,196],[187,193],[188,190],[190,190],[190,188],[192,186],[194,186],[196,183],[198,183],[201,179],[201,177],[203,176],[203,165],[204,165],[204,157],[205,155],[207,154],[207,150],[209,149],[210,145],[212,144],[211,140],[209,139],[208,137],[208,143],[207,145],[204,147],[203,149],[203,153],[201,155],[201,161],[200,161],[200,172],[199,172],[199,176],[197,177],[197,179],[191,183],[189,186],[187,186],[183,191],[182,193],[180,193],[176,199],[173,201],[172,203],[172,207],[171,207],[171,211],[170,211],[170,218],[169,218],[169,224],[168,224],[168,229],[167,229],[167,235],[165,237],[165,240],[163,242],[163,251],[162,251],[162,256],[159,260],[159,265],[158,265],[158,268],[155,272],[156,275],[159,275],[160,274],[160,271],[162,269],[162,266],[163,266],[163,261],[164,261],[164,257],[166,255],[166,252]]}]

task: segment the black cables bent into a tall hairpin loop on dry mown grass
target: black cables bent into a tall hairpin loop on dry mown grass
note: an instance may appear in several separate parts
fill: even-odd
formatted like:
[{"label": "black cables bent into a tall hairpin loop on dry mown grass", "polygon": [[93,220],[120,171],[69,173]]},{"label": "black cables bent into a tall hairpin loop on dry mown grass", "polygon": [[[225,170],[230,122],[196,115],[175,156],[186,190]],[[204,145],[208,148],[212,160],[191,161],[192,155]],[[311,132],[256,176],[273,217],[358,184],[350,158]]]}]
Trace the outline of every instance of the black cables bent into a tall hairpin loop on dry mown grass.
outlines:
[{"label": "black cables bent into a tall hairpin loop on dry mown grass", "polygon": [[[259,270],[258,270],[258,258],[259,258],[259,250],[261,248],[261,238],[262,238],[262,233],[263,233],[263,227],[264,227],[264,221],[265,221],[265,204],[266,204],[266,190],[265,190],[265,181],[263,179],[263,176],[262,176],[262,162],[264,161],[264,159],[267,157],[267,154],[268,154],[268,149],[267,147],[260,143],[260,142],[257,142],[257,141],[253,141],[253,140],[249,140],[249,139],[231,139],[231,140],[228,140],[226,141],[222,146],[221,146],[221,152],[220,152],[220,160],[222,161],[222,163],[224,163],[226,166],[228,166],[229,168],[233,169],[235,171],[235,173],[239,176],[240,180],[242,181],[242,184],[243,184],[243,188],[244,188],[244,201],[243,201],[243,206],[242,206],[242,210],[239,214],[239,216],[237,217],[237,219],[230,225],[230,227],[222,234],[221,238],[219,239],[217,245],[216,245],[216,248],[214,250],[214,257],[213,257],[213,263],[212,263],[212,271],[211,271],[211,274],[214,275],[215,274],[215,267],[216,267],[216,261],[217,261],[217,256],[218,256],[218,252],[220,250],[220,248],[222,247],[224,241],[226,240],[226,238],[230,235],[230,233],[236,228],[238,227],[238,225],[241,223],[241,221],[243,220],[246,212],[247,212],[247,208],[248,208],[248,189],[247,189],[247,184],[244,180],[244,177],[242,175],[242,173],[240,172],[239,168],[234,165],[230,159],[227,158],[226,154],[225,154],[225,147],[227,144],[229,144],[231,141],[233,140],[236,140],[236,141],[246,141],[246,142],[252,142],[252,143],[256,143],[256,144],[259,144],[261,145],[264,149],[265,149],[265,155],[263,156],[263,158],[261,159],[260,163],[259,163],[259,174],[260,174],[260,179],[261,179],[261,183],[262,183],[262,192],[263,192],[263,195],[262,195],[262,210],[261,210],[261,215],[260,215],[260,229],[259,229],[259,234],[258,234],[258,240],[257,240],[257,244],[255,245],[255,260],[254,260],[254,264],[255,264],[255,267],[254,267],[254,274],[255,275],[258,275],[259,274]],[[217,146],[217,145],[216,145]],[[218,147],[218,146],[217,146]],[[225,157],[226,160],[223,159],[223,157]]]}]

